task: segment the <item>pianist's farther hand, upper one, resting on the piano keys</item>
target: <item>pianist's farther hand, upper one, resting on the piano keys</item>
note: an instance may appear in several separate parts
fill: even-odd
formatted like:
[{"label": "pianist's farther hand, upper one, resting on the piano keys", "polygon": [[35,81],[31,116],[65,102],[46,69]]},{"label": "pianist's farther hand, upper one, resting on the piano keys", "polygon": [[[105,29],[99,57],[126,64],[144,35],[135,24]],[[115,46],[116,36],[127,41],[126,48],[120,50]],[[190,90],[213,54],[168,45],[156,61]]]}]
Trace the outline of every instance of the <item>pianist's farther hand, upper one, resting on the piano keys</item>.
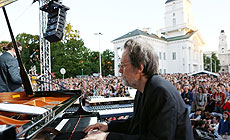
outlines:
[{"label": "pianist's farther hand, upper one, resting on the piano keys", "polygon": [[99,130],[99,131],[105,132],[105,131],[108,131],[108,125],[107,125],[107,123],[97,123],[97,124],[88,126],[87,128],[83,129],[82,131],[84,133],[88,133],[91,130]]}]

